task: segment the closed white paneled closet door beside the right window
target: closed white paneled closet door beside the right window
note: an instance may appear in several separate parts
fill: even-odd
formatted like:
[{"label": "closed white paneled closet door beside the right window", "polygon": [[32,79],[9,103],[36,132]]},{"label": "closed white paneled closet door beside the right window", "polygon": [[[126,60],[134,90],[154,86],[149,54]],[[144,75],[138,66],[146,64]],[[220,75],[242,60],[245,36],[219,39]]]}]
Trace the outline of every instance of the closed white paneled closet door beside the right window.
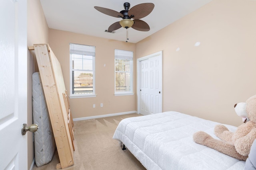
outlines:
[{"label": "closed white paneled closet door beside the right window", "polygon": [[162,51],[138,59],[138,112],[162,112]]}]

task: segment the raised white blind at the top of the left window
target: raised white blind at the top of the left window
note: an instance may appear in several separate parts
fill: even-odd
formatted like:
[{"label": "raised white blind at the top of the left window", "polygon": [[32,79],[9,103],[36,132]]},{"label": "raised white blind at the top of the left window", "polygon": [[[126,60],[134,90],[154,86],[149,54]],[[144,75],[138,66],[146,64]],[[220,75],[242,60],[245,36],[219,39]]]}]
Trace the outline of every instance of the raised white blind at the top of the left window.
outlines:
[{"label": "raised white blind at the top of the left window", "polygon": [[70,43],[70,54],[89,55],[95,57],[95,46]]}]

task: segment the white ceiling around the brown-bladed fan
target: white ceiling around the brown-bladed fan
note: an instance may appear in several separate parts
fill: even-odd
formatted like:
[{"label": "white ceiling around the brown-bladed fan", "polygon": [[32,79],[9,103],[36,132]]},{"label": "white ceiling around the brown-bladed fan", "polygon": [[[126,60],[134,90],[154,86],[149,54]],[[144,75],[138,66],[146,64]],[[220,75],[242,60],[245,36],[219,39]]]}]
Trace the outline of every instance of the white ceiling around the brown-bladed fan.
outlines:
[{"label": "white ceiling around the brown-bladed fan", "polygon": [[108,27],[121,18],[103,14],[94,6],[109,8],[120,12],[124,10],[124,2],[130,8],[137,4],[152,2],[154,10],[140,20],[150,26],[150,31],[128,29],[128,42],[138,41],[152,35],[170,23],[197,10],[212,0],[40,0],[48,27],[74,33],[82,33],[95,37],[126,41],[126,29],[120,28],[115,33],[105,32]]}]

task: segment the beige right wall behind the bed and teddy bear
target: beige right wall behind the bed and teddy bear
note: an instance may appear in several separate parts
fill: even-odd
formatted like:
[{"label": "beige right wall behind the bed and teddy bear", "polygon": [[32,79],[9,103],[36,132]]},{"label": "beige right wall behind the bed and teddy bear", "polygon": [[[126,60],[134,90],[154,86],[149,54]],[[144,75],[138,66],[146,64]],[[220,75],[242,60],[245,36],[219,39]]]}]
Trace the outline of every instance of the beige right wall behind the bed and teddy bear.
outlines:
[{"label": "beige right wall behind the bed and teddy bear", "polygon": [[136,43],[138,58],[163,51],[163,111],[242,123],[233,106],[256,94],[255,9],[255,1],[213,0]]}]

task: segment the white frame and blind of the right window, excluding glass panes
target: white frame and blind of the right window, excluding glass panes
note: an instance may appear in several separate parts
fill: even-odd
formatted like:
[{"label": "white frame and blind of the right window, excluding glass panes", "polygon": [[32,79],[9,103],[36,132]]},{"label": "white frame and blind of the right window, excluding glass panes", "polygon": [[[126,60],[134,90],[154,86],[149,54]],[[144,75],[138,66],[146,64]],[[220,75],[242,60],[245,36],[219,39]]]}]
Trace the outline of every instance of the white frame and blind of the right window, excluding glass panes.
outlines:
[{"label": "white frame and blind of the right window, excluding glass panes", "polygon": [[[129,92],[116,92],[116,59],[126,59],[130,60],[130,91]],[[124,95],[134,95],[133,92],[133,51],[125,51],[115,49],[115,81],[114,81],[114,95],[115,96],[124,96]]]}]

